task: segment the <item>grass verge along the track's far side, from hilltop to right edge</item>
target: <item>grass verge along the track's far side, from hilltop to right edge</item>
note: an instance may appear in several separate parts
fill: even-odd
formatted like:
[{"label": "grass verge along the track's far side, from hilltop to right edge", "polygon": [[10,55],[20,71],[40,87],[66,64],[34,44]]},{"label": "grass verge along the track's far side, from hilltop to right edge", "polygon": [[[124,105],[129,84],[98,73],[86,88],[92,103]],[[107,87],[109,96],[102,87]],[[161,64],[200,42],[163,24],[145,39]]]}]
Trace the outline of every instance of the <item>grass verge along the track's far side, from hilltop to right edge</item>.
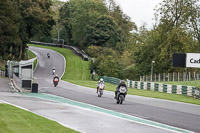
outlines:
[{"label": "grass verge along the track's far side, from hilltop to right edge", "polygon": [[[69,49],[47,47],[47,46],[41,46],[41,45],[29,45],[29,46],[48,48],[48,49],[52,49],[61,53],[66,58],[66,71],[62,79],[73,84],[96,89],[97,81],[90,80],[89,62],[82,61],[82,59],[78,57],[76,54],[74,54],[73,51]],[[105,85],[106,85],[105,90],[113,91],[113,92],[115,91],[117,87],[117,85],[113,85],[109,83],[105,83]],[[172,101],[179,101],[179,102],[200,105],[200,100],[194,99],[189,96],[184,96],[184,95],[167,94],[167,93],[161,93],[161,92],[155,92],[155,91],[149,91],[149,90],[132,89],[132,88],[129,88],[128,94],[167,99],[167,100],[172,100]],[[113,97],[114,97],[114,93],[113,93]]]}]

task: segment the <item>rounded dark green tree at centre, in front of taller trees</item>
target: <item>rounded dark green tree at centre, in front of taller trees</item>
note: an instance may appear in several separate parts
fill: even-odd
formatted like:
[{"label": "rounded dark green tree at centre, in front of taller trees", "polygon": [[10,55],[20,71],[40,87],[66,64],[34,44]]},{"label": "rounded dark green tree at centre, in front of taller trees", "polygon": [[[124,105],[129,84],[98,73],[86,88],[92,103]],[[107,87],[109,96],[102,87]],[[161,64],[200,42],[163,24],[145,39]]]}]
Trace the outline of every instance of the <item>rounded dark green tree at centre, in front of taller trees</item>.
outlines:
[{"label": "rounded dark green tree at centre, in front of taller trees", "polygon": [[120,42],[121,31],[112,17],[103,15],[96,20],[94,27],[88,27],[87,45],[115,46]]}]

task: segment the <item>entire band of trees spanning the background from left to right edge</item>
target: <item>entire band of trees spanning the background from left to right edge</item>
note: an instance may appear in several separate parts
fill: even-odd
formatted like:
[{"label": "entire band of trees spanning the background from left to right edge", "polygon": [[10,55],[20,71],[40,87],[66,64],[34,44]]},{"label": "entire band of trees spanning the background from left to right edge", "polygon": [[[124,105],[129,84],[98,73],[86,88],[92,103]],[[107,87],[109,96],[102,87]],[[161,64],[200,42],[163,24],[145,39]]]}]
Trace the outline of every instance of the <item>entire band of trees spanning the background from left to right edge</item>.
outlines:
[{"label": "entire band of trees spanning the background from left to right edge", "polygon": [[29,40],[59,34],[95,58],[98,75],[121,79],[150,74],[152,61],[155,73],[184,71],[172,67],[172,54],[200,51],[199,0],[163,0],[151,29],[138,27],[114,0],[2,0],[0,18],[3,58],[23,58]]}]

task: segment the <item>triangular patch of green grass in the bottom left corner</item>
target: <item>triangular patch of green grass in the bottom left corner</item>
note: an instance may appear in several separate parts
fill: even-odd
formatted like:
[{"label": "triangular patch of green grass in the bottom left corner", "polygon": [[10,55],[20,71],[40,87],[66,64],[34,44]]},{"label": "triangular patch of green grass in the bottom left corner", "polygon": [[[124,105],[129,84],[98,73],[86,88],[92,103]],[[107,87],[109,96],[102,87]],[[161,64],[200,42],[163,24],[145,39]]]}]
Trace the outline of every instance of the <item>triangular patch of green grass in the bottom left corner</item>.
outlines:
[{"label": "triangular patch of green grass in the bottom left corner", "polygon": [[31,112],[0,104],[0,133],[76,133],[76,131]]}]

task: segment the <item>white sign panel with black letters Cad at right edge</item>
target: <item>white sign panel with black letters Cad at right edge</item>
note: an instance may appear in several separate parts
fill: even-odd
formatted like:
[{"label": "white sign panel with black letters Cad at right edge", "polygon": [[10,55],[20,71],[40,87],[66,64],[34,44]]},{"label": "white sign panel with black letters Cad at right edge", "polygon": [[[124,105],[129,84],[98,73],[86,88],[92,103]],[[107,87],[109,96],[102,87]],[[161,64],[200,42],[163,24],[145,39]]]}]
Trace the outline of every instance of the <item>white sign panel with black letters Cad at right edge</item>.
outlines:
[{"label": "white sign panel with black letters Cad at right edge", "polygon": [[186,54],[186,67],[200,68],[200,54],[187,53]]}]

